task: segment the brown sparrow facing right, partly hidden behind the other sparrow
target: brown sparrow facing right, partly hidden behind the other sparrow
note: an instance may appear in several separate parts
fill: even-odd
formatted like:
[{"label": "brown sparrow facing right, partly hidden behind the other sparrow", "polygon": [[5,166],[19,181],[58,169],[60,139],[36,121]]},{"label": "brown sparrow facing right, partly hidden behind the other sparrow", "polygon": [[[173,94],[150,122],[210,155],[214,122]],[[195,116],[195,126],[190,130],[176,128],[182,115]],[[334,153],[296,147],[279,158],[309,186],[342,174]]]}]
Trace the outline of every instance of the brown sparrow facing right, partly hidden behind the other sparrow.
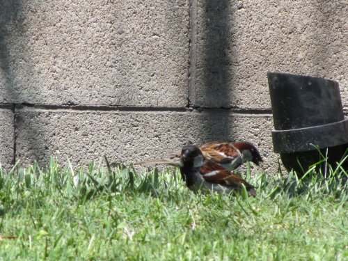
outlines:
[{"label": "brown sparrow facing right, partly hidden behind the other sparrow", "polygon": [[[198,148],[206,159],[214,161],[228,171],[232,171],[244,164],[246,161],[252,161],[254,164],[260,164],[262,158],[260,152],[255,146],[246,141],[241,142],[211,142],[200,145]],[[147,161],[138,161],[136,165],[144,164],[167,164],[181,167],[180,152],[172,152],[171,155],[163,159],[150,159]]]}]

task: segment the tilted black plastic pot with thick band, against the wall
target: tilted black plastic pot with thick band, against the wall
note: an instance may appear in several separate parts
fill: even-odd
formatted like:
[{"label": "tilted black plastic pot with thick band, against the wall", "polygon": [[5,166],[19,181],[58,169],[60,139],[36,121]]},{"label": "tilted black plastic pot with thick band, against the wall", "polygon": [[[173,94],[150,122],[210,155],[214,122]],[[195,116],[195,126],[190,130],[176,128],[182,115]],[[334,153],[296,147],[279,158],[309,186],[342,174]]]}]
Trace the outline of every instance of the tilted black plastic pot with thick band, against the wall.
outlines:
[{"label": "tilted black plastic pot with thick band, against the wall", "polygon": [[[299,175],[322,157],[335,165],[348,149],[348,118],[342,109],[338,82],[328,79],[269,72],[274,118],[274,152],[285,168]],[[345,161],[344,168],[348,169]]]}]

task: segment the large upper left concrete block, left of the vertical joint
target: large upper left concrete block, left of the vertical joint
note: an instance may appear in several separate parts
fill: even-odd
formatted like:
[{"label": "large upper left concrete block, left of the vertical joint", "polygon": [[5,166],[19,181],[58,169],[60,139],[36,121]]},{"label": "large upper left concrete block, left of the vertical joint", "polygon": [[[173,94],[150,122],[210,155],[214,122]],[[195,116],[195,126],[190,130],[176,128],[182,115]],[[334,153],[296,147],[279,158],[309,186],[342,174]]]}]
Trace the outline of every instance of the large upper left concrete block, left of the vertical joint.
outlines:
[{"label": "large upper left concrete block, left of the vertical joint", "polygon": [[0,2],[0,102],[184,106],[189,1]]}]

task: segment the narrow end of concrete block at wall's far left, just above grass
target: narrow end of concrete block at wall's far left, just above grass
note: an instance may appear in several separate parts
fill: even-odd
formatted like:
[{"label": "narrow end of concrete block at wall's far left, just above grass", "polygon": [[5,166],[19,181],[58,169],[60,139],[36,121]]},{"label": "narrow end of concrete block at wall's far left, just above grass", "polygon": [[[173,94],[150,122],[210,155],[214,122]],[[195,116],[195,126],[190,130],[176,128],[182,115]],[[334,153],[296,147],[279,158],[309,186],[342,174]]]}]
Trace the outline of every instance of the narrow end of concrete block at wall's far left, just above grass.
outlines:
[{"label": "narrow end of concrete block at wall's far left, just above grass", "polygon": [[14,159],[14,122],[11,109],[0,109],[0,164],[3,168],[10,169]]}]

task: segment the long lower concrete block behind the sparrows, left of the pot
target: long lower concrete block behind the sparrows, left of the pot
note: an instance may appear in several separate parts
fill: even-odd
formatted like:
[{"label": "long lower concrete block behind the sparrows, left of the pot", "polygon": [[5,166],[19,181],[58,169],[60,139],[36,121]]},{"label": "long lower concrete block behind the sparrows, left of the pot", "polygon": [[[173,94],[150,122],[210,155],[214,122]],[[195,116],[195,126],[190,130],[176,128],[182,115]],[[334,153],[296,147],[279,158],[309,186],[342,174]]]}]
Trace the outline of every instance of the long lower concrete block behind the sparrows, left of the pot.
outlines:
[{"label": "long lower concrete block behind the sparrows, left of the pot", "polygon": [[213,112],[121,112],[68,110],[17,111],[16,157],[44,166],[49,156],[86,166],[103,155],[127,163],[180,150],[189,143],[245,140],[264,157],[264,168],[275,173],[277,156],[271,143],[271,116],[231,115]]}]

